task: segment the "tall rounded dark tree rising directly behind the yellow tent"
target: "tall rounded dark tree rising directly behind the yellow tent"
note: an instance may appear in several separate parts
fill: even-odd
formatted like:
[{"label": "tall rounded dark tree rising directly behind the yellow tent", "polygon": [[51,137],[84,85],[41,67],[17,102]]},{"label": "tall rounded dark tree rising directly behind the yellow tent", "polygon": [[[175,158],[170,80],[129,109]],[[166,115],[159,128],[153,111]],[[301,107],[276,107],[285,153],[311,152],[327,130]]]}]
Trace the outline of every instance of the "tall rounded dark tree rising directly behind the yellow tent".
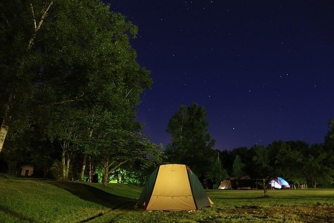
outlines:
[{"label": "tall rounded dark tree rising directly behind the yellow tent", "polygon": [[181,105],[168,123],[171,143],[165,154],[172,163],[188,165],[198,176],[210,169],[215,140],[208,133],[205,109],[197,103]]}]

